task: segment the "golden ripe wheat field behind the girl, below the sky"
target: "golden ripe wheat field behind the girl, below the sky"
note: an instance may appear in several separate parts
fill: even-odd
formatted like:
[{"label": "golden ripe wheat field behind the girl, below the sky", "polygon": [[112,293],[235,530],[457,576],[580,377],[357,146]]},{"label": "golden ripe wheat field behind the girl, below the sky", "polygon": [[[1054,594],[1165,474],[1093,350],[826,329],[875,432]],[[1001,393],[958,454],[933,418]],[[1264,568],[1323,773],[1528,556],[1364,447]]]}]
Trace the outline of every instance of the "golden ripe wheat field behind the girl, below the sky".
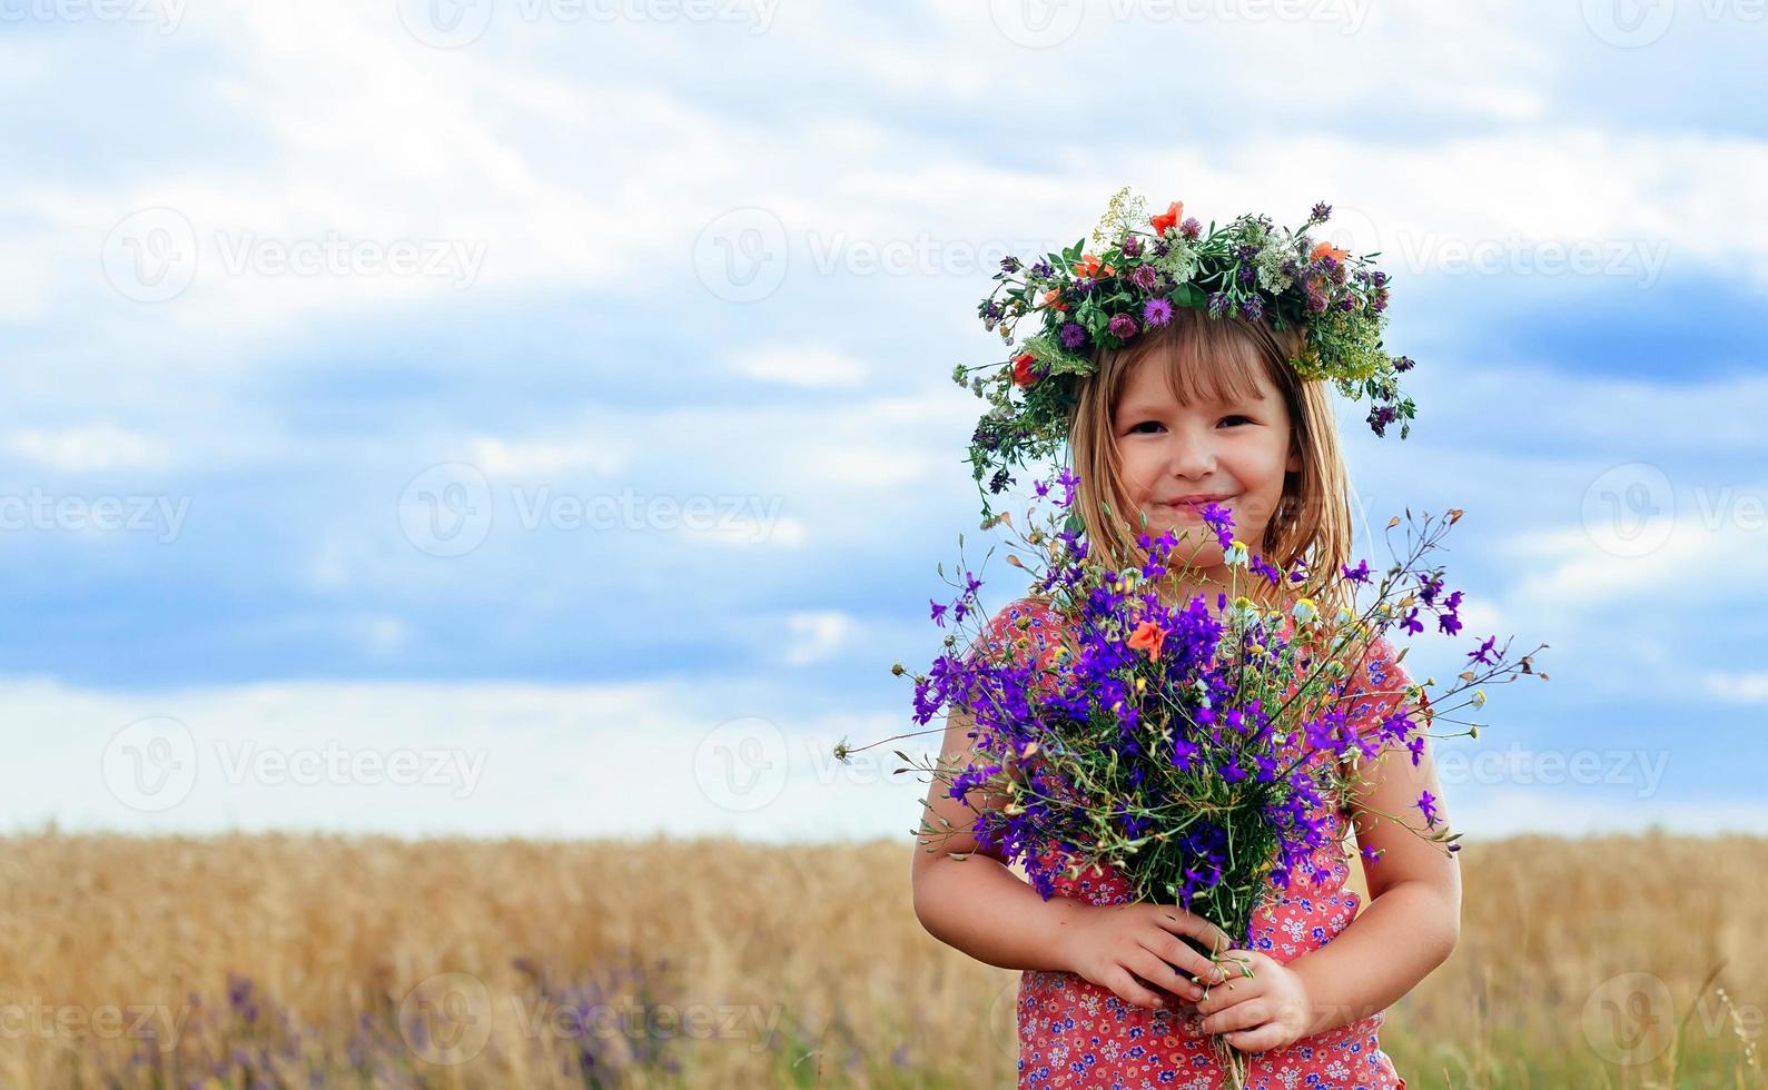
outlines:
[{"label": "golden ripe wheat field behind the girl, below the sky", "polygon": [[[911,843],[0,839],[0,1085],[1011,1086]],[[1409,1086],[1763,1086],[1768,839],[1473,843]],[[1360,876],[1358,876],[1360,882]]]}]

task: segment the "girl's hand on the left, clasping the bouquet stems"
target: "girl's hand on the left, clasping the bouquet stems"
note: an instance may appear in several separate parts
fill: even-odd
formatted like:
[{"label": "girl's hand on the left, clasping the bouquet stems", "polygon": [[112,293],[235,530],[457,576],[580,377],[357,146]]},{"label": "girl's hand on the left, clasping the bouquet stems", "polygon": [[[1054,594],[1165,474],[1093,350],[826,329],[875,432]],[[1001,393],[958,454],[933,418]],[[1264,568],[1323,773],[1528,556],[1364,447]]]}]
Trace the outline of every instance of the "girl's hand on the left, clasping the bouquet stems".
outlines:
[{"label": "girl's hand on the left, clasping the bouquet stems", "polygon": [[1204,996],[1192,977],[1208,980],[1215,966],[1181,935],[1209,950],[1232,945],[1222,927],[1177,905],[1082,905],[1057,952],[1063,966],[1135,1007],[1185,1011]]}]

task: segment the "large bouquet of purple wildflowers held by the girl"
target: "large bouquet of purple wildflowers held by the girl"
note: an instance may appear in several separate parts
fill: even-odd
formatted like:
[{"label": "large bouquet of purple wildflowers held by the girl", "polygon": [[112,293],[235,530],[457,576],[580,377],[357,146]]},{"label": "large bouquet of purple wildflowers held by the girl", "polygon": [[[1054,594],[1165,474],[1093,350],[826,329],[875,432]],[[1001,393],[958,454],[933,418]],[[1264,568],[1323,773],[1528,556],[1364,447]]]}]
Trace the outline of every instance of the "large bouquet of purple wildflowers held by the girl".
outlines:
[{"label": "large bouquet of purple wildflowers held by the girl", "polygon": [[[1254,595],[1282,601],[1280,592],[1305,574],[1250,553],[1232,537],[1231,512],[1209,505],[1202,516],[1236,590],[1218,594],[1211,609],[1204,597],[1163,601],[1163,581],[1190,571],[1172,532],[1158,541],[1142,535],[1140,567],[1087,564],[1078,518],[1068,512],[1077,479],[1064,470],[1059,482],[1055,514],[1020,539],[1031,562],[1018,553],[1008,562],[1027,571],[1033,594],[1064,618],[1066,640],[1034,657],[1015,652],[1011,624],[1004,640],[981,638],[962,650],[948,634],[946,654],[914,675],[914,719],[925,724],[942,708],[969,714],[974,760],[923,765],[896,753],[948,784],[953,799],[969,802],[976,791],[1010,799],[1001,809],[978,809],[969,832],[1022,864],[1045,899],[1064,869],[1080,876],[1105,864],[1137,899],[1177,903],[1246,945],[1273,883],[1287,889],[1298,871],[1319,878],[1308,873],[1315,850],[1338,843],[1338,827],[1321,814],[1354,809],[1360,761],[1404,746],[1416,765],[1427,735],[1478,735],[1478,724],[1457,714],[1485,703],[1482,685],[1519,673],[1547,677],[1529,655],[1512,661],[1508,640],[1497,647],[1489,638],[1467,652],[1457,684],[1436,696],[1425,693],[1434,678],[1398,691],[1368,684],[1365,659],[1391,650],[1384,629],[1418,632],[1420,615],[1429,613],[1441,632],[1460,632],[1462,592],[1444,594],[1441,567],[1423,564],[1459,511],[1407,530],[1367,608],[1328,611],[1308,597],[1287,608],[1257,604]],[[1038,495],[1048,498],[1048,484],[1040,482]],[[1010,516],[999,518],[1011,526]],[[1398,525],[1398,518],[1388,525],[1390,548]],[[1241,576],[1252,594],[1238,594]],[[1372,581],[1363,560],[1340,572],[1330,597],[1354,602]],[[979,588],[965,571],[955,601],[930,602],[932,620],[944,627],[987,617]],[[907,673],[902,664],[893,671]],[[1388,714],[1353,715],[1349,705],[1361,698],[1376,698]],[[1466,730],[1432,733],[1443,724]],[[847,753],[845,742],[836,747],[836,756]],[[1434,802],[1429,791],[1418,799],[1423,830],[1414,832],[1453,853],[1460,834],[1448,832]],[[1381,816],[1406,823],[1402,814]],[[923,820],[925,837],[949,832]],[[1047,852],[1050,844],[1061,852]],[[1216,1046],[1243,1076],[1239,1053],[1220,1037]]]}]

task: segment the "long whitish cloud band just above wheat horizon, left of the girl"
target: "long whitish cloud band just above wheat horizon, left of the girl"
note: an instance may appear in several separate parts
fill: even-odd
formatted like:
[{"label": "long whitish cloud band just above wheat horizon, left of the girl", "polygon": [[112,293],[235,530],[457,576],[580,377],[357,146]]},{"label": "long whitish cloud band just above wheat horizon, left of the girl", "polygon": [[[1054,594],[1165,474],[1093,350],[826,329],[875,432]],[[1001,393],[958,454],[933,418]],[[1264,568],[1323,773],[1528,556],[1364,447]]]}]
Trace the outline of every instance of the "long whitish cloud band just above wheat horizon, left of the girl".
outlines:
[{"label": "long whitish cloud band just above wheat horizon, left of the girl", "polygon": [[907,836],[923,788],[888,753],[831,753],[900,733],[896,717],[739,707],[753,694],[716,684],[5,680],[0,795],[12,829]]}]

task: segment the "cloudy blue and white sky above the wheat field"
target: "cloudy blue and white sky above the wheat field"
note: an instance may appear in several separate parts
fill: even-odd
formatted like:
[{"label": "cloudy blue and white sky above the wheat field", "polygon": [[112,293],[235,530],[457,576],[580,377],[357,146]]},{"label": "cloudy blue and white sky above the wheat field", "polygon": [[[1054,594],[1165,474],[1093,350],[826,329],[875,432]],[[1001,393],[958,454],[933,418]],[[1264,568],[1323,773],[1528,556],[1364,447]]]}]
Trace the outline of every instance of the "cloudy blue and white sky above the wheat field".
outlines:
[{"label": "cloudy blue and white sky above the wheat field", "polygon": [[826,753],[985,551],[951,367],[1124,184],[1395,276],[1367,525],[1466,509],[1469,629],[1552,645],[1469,836],[1768,816],[1747,5],[5,11],[9,827],[907,832]]}]

